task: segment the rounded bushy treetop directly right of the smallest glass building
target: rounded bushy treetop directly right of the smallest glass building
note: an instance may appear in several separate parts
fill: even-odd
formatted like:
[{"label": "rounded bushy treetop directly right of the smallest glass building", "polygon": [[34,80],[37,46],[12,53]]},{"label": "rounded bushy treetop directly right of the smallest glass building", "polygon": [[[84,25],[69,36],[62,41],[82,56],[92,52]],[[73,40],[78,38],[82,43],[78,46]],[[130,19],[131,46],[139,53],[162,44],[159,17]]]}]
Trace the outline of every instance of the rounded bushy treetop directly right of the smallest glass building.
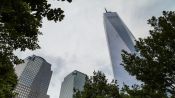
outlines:
[{"label": "rounded bushy treetop directly right of the smallest glass building", "polygon": [[94,72],[87,77],[84,90],[75,90],[74,98],[119,98],[119,88],[116,81],[108,83],[105,74]]}]

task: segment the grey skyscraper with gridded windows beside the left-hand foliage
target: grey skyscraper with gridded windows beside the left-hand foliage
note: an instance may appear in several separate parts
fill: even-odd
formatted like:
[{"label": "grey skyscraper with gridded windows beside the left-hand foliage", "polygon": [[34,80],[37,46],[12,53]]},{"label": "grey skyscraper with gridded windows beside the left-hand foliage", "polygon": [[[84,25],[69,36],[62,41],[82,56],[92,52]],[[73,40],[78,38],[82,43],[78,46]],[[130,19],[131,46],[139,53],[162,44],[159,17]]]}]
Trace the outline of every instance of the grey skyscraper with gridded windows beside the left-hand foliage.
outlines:
[{"label": "grey skyscraper with gridded windows beside the left-hand foliage", "polygon": [[17,65],[18,84],[16,98],[49,98],[47,95],[52,71],[51,64],[39,56],[30,56],[25,63]]}]

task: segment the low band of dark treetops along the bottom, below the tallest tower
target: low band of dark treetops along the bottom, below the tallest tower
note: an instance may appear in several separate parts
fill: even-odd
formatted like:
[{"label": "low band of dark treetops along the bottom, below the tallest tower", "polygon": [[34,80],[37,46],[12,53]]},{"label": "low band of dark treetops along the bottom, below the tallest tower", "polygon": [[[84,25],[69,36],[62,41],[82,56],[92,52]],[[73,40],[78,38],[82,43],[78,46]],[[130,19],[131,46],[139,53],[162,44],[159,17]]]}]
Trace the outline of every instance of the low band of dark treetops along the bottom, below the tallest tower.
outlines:
[{"label": "low band of dark treetops along the bottom, below the tallest tower", "polygon": [[87,77],[83,91],[74,89],[74,98],[167,98],[162,93],[149,91],[144,85],[124,85],[118,88],[117,81],[107,82],[105,74],[94,72],[90,78]]}]

